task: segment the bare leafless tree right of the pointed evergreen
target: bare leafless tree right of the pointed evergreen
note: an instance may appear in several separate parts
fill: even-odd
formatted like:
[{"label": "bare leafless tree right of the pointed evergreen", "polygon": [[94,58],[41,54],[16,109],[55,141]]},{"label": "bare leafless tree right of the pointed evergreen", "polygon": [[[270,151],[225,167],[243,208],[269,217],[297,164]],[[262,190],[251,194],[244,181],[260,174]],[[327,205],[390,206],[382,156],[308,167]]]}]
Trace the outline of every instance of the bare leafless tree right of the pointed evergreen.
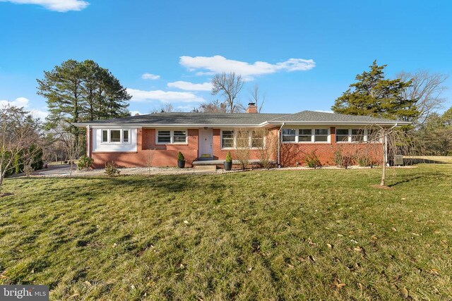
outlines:
[{"label": "bare leafless tree right of the pointed evergreen", "polygon": [[416,100],[415,106],[420,111],[420,115],[417,120],[407,120],[415,123],[415,125],[422,125],[429,114],[440,109],[446,101],[441,95],[446,90],[444,82],[448,76],[445,74],[420,70],[415,73],[401,72],[397,77],[403,81],[411,80],[410,87],[403,90],[402,96],[404,99]]}]

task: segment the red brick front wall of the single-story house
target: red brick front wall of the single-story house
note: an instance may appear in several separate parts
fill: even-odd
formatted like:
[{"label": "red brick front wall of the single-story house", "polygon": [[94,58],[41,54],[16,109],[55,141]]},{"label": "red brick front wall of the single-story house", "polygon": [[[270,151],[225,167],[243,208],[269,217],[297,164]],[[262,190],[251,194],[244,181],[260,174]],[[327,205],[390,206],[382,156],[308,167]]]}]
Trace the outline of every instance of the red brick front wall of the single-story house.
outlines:
[{"label": "red brick front wall of the single-story house", "polygon": [[[278,137],[279,128],[270,129],[271,134]],[[282,143],[280,147],[281,166],[306,165],[307,154],[315,153],[324,166],[335,164],[335,152],[338,150],[343,154],[356,157],[357,153],[369,156],[375,163],[381,163],[383,147],[379,143],[336,143],[335,127],[331,127],[331,143]],[[113,161],[120,167],[147,166],[152,154],[152,166],[177,166],[177,153],[180,151],[185,156],[186,166],[192,166],[192,162],[198,157],[198,129],[188,130],[188,143],[184,145],[157,145],[155,143],[155,129],[138,128],[137,151],[136,152],[93,152],[93,143],[90,143],[91,156],[94,159],[93,167],[103,168],[105,162]],[[91,141],[93,131],[90,130]],[[227,152],[231,152],[235,159],[234,149],[221,149],[220,129],[213,129],[213,156],[214,159],[224,160]],[[250,159],[260,159],[258,149],[250,150]],[[278,160],[277,152],[273,156]],[[357,162],[354,162],[355,164]]]}]

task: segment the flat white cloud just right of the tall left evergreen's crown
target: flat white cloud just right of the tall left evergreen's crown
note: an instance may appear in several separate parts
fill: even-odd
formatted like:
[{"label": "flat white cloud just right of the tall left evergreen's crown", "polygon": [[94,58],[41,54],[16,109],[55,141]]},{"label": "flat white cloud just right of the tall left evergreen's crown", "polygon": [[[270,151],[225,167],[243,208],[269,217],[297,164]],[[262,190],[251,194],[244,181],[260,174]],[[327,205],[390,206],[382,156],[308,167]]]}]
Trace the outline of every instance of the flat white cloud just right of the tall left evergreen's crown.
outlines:
[{"label": "flat white cloud just right of the tall left evergreen's crown", "polygon": [[162,90],[137,90],[127,89],[127,92],[132,95],[131,102],[145,102],[147,100],[159,100],[166,104],[172,102],[204,102],[202,97],[198,97],[196,94],[190,92],[173,92]]}]

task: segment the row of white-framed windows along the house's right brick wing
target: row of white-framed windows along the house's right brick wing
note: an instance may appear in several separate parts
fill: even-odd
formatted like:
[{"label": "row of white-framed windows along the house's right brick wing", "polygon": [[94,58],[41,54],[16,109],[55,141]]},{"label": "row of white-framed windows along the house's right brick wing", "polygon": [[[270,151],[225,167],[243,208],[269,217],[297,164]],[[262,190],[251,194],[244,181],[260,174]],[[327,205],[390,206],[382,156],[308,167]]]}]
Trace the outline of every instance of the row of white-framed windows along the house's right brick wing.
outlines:
[{"label": "row of white-framed windows along the house's right brick wing", "polygon": [[[329,142],[327,128],[285,128],[283,129],[283,142]],[[378,132],[370,129],[338,128],[336,129],[336,142],[380,142]]]}]

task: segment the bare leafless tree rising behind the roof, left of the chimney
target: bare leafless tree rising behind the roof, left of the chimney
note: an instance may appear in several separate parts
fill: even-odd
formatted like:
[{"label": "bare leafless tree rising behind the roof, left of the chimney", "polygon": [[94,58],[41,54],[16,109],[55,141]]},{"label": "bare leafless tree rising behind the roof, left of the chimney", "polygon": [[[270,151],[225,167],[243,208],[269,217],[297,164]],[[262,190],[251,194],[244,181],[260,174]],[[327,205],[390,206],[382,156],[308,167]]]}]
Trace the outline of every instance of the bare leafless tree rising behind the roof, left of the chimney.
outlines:
[{"label": "bare leafless tree rising behind the roof, left of the chimney", "polygon": [[212,94],[221,93],[225,97],[225,104],[230,113],[242,111],[243,106],[237,102],[237,96],[242,91],[243,85],[242,75],[236,75],[234,72],[216,74],[212,78]]}]

